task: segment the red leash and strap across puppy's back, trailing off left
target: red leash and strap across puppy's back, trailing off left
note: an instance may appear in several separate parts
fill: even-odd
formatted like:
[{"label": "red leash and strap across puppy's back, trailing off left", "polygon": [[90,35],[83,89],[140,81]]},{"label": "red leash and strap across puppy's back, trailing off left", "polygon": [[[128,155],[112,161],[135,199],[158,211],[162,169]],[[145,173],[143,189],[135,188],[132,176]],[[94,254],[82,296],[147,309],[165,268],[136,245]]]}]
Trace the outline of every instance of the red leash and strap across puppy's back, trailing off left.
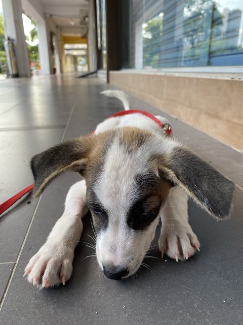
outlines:
[{"label": "red leash and strap across puppy's back, trailing off left", "polygon": [[[161,128],[163,128],[164,133],[166,134],[167,137],[170,136],[170,134],[171,134],[171,126],[170,126],[170,124],[161,123],[154,115],[152,115],[152,114],[150,114],[148,112],[145,112],[145,111],[140,111],[140,110],[121,111],[121,112],[118,112],[118,113],[115,113],[115,114],[109,116],[107,119],[109,119],[111,117],[119,117],[119,116],[128,115],[128,114],[135,114],[135,113],[139,113],[139,114],[142,114],[142,115],[145,115],[145,116],[149,117],[155,123],[157,123]],[[94,134],[95,134],[95,131],[91,133],[91,136],[93,136]],[[2,203],[0,205],[0,215],[3,214],[5,211],[7,211],[13,204],[15,204],[25,194],[30,192],[33,189],[33,187],[34,187],[34,184],[29,185],[28,187],[26,187],[25,189],[23,189],[22,191],[17,193],[15,196],[13,196],[9,200]]]}]

